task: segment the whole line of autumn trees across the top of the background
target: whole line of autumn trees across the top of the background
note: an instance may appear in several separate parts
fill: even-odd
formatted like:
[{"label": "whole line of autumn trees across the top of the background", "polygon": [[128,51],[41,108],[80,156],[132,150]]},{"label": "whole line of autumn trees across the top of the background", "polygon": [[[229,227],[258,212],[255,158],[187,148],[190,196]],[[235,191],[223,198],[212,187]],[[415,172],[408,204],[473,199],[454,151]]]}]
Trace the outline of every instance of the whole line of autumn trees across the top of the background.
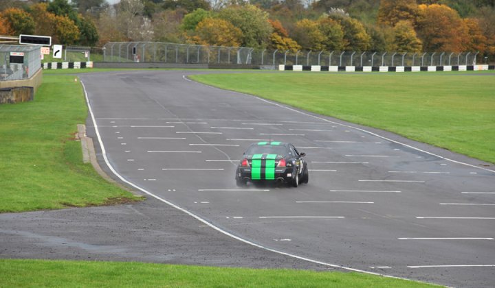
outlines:
[{"label": "whole line of autumn trees across the top of the background", "polygon": [[494,0],[4,0],[0,34],[102,46],[160,41],[279,51],[495,54]]}]

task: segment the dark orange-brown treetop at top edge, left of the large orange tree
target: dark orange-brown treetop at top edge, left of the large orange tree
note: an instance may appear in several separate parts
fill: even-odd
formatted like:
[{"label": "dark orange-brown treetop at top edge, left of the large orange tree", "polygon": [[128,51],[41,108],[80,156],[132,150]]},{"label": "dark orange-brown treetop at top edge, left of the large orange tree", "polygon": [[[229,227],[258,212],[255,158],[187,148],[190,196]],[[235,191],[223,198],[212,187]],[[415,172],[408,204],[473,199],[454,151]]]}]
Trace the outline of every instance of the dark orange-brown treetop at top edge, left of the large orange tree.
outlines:
[{"label": "dark orange-brown treetop at top edge, left of the large orange tree", "polygon": [[418,14],[416,0],[381,0],[378,23],[395,26],[399,21],[415,23]]}]

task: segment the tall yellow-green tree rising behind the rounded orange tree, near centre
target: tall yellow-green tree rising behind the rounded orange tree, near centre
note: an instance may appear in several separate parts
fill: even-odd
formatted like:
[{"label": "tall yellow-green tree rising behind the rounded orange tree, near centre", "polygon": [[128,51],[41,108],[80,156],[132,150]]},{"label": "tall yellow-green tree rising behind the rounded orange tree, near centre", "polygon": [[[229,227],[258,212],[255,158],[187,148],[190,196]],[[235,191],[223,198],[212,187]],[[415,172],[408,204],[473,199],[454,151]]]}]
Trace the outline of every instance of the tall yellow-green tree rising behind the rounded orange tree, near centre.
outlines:
[{"label": "tall yellow-green tree rising behind the rounded orange tree, near centre", "polygon": [[219,12],[219,18],[241,29],[243,47],[265,47],[272,34],[268,13],[254,5],[230,6]]}]

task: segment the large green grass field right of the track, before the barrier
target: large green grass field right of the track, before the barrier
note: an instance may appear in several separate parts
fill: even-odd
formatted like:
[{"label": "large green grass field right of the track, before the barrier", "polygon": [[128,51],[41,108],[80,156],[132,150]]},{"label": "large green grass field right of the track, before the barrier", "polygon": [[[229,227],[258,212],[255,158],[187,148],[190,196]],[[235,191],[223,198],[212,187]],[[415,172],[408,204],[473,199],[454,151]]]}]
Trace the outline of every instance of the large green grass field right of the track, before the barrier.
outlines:
[{"label": "large green grass field right of the track, before the barrier", "polygon": [[190,77],[495,163],[494,71]]}]

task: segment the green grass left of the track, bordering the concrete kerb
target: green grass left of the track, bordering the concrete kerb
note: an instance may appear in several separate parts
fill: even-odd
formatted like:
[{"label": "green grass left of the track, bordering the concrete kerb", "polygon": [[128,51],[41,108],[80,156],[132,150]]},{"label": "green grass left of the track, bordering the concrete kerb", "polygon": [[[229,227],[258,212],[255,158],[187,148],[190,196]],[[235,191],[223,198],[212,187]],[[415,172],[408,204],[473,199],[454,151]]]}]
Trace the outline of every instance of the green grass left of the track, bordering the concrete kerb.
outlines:
[{"label": "green grass left of the track, bordering the concrete kerb", "polygon": [[34,101],[0,106],[0,212],[137,200],[83,164],[87,107],[74,76],[43,77]]}]

